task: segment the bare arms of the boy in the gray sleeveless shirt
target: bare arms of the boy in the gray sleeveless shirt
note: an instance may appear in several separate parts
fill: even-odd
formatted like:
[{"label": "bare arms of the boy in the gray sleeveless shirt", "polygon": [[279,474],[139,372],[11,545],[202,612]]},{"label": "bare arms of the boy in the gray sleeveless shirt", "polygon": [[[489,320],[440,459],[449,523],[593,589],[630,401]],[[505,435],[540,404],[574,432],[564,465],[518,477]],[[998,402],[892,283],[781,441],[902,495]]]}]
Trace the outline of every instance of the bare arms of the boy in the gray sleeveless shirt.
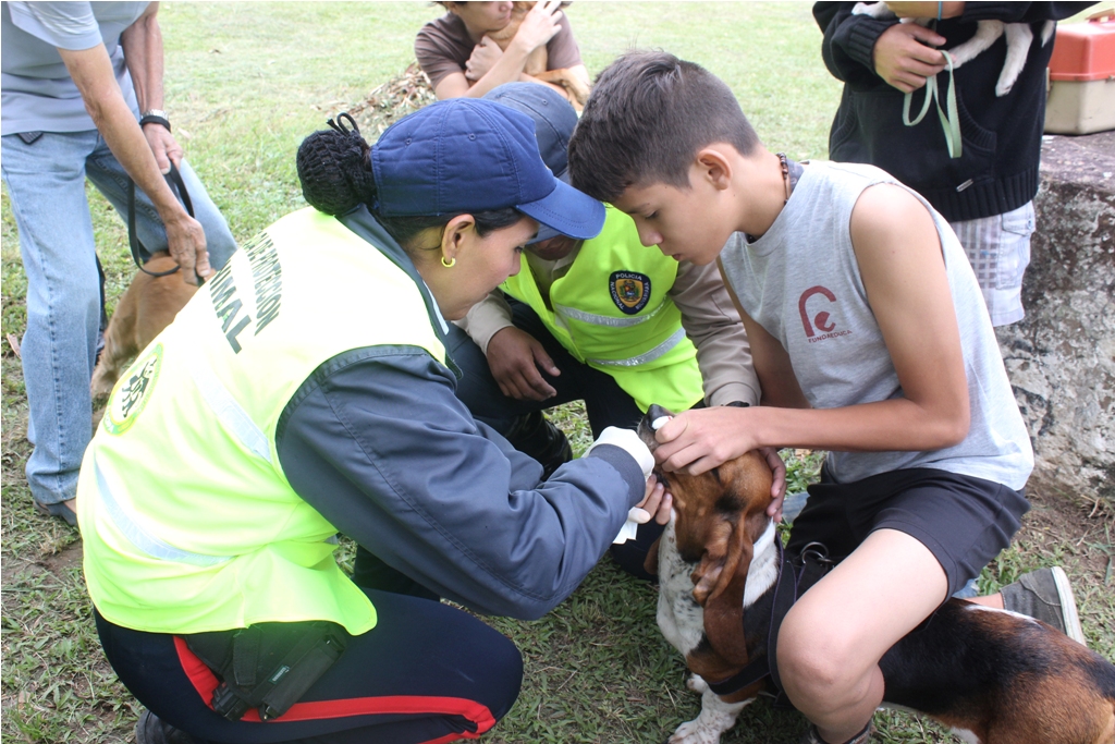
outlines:
[{"label": "bare arms of the boy in the gray sleeveless shirt", "polygon": [[[929,211],[905,190],[873,186],[852,212],[851,232],[867,301],[904,397],[830,409],[686,412],[659,429],[663,444],[656,457],[666,470],[701,473],[758,446],[929,451],[963,439],[968,384],[940,239]],[[769,341],[764,340],[765,331],[757,327],[752,322],[747,331],[766,395],[768,385],[777,385],[784,375],[770,341],[780,346],[768,335]]]}]

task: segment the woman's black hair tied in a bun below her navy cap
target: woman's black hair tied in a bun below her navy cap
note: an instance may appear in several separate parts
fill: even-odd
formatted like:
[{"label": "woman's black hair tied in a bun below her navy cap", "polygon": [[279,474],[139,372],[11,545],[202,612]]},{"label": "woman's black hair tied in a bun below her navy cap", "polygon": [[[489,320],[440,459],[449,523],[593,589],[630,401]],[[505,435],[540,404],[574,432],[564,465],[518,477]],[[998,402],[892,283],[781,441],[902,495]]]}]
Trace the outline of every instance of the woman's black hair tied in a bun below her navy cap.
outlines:
[{"label": "woman's black hair tied in a bun below her navy cap", "polygon": [[[360,135],[356,122],[340,114],[330,129],[314,132],[298,148],[298,177],[302,196],[319,212],[340,216],[366,204],[376,220],[404,249],[414,247],[414,239],[428,228],[440,228],[460,213],[385,218],[376,209],[376,180],[368,154],[371,147]],[[346,128],[347,119],[351,128]],[[472,213],[481,238],[508,228],[523,219],[523,213],[508,206]]]}]

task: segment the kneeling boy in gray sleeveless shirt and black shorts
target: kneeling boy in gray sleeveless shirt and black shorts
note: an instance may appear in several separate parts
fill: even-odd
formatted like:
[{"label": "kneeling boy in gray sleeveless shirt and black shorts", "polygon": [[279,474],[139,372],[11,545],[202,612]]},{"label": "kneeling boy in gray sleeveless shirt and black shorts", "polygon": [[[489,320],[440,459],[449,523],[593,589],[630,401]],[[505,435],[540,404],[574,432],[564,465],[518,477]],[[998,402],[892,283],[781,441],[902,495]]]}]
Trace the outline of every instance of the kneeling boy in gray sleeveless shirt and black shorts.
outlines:
[{"label": "kneeling boy in gray sleeveless shirt and black shorts", "polygon": [[[777,664],[809,741],[866,741],[882,655],[1029,508],[1034,454],[963,250],[884,172],[770,153],[727,86],[666,52],[601,74],[569,163],[644,245],[719,260],[747,329],[762,405],[677,414],[658,432],[661,466],[698,474],[762,446],[831,453],[787,550],[815,540],[841,562],[786,616]],[[1075,636],[1060,583],[1058,617],[1041,619]]]}]

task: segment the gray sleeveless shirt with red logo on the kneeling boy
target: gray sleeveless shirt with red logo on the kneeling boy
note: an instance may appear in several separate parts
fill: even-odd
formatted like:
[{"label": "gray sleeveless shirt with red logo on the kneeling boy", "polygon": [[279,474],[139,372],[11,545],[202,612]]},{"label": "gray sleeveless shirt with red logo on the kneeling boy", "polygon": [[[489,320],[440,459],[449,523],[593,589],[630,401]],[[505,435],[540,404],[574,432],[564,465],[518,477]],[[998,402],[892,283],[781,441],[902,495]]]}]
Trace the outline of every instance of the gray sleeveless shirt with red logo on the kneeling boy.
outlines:
[{"label": "gray sleeveless shirt with red logo on the kneeling boy", "polygon": [[[902,396],[852,249],[852,207],[878,183],[901,186],[871,165],[813,162],[766,234],[748,244],[736,233],[720,253],[740,305],[782,342],[814,408]],[[847,483],[899,468],[937,467],[1020,490],[1034,467],[1034,452],[976,276],[949,223],[910,193],[930,211],[941,239],[971,426],[963,442],[932,452],[831,452],[828,471]]]}]

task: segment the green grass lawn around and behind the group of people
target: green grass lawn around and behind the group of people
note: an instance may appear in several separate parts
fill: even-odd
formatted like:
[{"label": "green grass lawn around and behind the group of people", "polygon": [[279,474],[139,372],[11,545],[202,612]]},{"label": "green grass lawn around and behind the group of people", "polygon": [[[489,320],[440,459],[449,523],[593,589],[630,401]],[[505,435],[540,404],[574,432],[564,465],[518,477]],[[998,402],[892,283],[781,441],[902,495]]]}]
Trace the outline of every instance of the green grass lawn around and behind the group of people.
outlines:
[{"label": "green grass lawn around and behind the group of people", "polygon": [[[414,58],[414,33],[438,12],[426,2],[164,3],[166,108],[237,240],[303,205],[294,174],[299,142],[403,73]],[[772,149],[798,160],[826,155],[840,85],[821,61],[821,33],[807,3],[579,2],[568,12],[592,74],[632,46],[667,49],[724,78]],[[375,115],[361,120],[382,124]],[[134,268],[123,224],[99,194],[89,194],[112,308]],[[26,280],[7,192],[0,247],[2,330],[18,339]],[[103,659],[77,532],[30,505],[22,373],[7,342],[0,363],[0,741],[132,742],[139,708]],[[583,412],[569,406],[556,418],[582,452]],[[792,485],[799,490],[815,476],[816,456],[791,461]],[[982,588],[993,590],[1038,566],[1066,566],[1089,644],[1115,657],[1109,506],[1041,487],[1031,496],[1035,509],[1022,532],[983,572]],[[492,619],[522,649],[526,678],[511,715],[482,741],[659,742],[691,718],[699,699],[685,689],[681,659],[658,631],[655,602],[652,587],[605,559],[546,618]],[[902,714],[880,714],[876,722],[880,741],[959,741]],[[789,743],[803,728],[796,714],[759,700],[725,741]]]}]

